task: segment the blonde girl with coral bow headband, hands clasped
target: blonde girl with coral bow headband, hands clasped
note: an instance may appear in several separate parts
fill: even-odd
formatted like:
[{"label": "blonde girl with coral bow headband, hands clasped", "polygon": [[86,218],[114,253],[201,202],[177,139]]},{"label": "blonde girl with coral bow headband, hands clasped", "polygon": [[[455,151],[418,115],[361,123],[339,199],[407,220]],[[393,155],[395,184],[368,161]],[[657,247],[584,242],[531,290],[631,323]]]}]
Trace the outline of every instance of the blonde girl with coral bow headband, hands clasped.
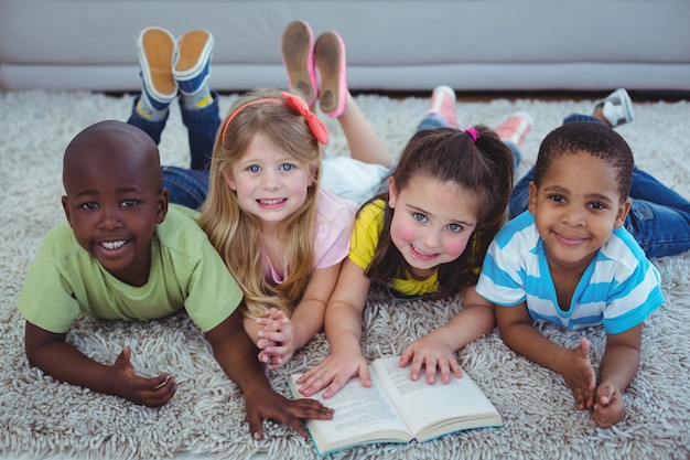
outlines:
[{"label": "blonde girl with coral bow headband, hands clasped", "polygon": [[356,205],[319,186],[325,125],[294,94],[241,97],[213,152],[201,226],[237,279],[245,330],[269,367],[323,325]]}]

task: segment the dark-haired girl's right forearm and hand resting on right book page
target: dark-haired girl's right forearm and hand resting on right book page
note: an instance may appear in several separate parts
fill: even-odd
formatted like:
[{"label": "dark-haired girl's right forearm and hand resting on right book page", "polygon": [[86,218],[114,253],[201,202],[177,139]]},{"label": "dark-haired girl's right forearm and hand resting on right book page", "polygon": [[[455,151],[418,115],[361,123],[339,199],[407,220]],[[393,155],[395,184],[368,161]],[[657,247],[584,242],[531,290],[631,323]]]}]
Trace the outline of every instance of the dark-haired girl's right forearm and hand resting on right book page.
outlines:
[{"label": "dark-haired girl's right forearm and hand resting on right book page", "polygon": [[474,286],[467,287],[463,291],[463,309],[448,324],[410,343],[400,355],[400,367],[412,363],[410,377],[416,381],[424,366],[430,384],[436,379],[436,367],[443,383],[450,382],[451,372],[460,378],[455,352],[489,333],[495,324],[492,303]]}]

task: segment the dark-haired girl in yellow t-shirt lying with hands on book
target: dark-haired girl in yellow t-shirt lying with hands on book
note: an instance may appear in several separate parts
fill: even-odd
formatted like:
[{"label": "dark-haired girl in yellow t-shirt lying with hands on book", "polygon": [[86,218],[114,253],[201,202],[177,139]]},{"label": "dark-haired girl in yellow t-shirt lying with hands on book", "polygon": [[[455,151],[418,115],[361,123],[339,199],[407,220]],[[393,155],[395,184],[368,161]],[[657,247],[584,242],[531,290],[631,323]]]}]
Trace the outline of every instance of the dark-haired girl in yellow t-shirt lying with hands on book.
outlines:
[{"label": "dark-haired girl in yellow t-shirt lying with hands on book", "polygon": [[[349,257],[326,308],[331,355],[300,377],[301,394],[326,388],[323,396],[331,397],[353,376],[370,386],[359,339],[371,281],[401,298],[462,292],[462,311],[403,351],[400,365],[411,363],[412,379],[422,366],[429,383],[436,368],[444,383],[451,373],[460,377],[455,352],[494,329],[492,304],[474,286],[486,248],[505,222],[517,157],[484,126],[459,130],[455,103],[451,88],[434,89],[429,114],[388,180],[389,191],[359,211]],[[444,125],[452,128],[429,129]],[[499,128],[519,145],[529,120],[513,117]]]}]

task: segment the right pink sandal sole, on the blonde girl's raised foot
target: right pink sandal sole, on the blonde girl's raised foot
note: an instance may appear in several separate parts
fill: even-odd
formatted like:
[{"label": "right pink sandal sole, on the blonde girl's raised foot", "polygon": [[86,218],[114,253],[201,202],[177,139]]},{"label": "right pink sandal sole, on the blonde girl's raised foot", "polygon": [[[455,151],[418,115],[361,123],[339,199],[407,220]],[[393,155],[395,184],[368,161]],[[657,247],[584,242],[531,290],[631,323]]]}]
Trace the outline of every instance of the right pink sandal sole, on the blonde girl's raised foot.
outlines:
[{"label": "right pink sandal sole, on the blonde girl's raised foot", "polygon": [[337,32],[324,32],[314,45],[314,62],[321,76],[319,106],[328,117],[339,117],[347,104],[345,43]]}]

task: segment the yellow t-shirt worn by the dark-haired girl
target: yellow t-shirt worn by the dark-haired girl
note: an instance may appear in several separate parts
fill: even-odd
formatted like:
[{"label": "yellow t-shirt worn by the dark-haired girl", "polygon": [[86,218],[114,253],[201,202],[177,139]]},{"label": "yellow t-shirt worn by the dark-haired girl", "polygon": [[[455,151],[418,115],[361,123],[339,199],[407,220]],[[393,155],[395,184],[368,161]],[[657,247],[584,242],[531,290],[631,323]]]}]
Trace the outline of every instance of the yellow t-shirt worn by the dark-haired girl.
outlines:
[{"label": "yellow t-shirt worn by the dark-haired girl", "polygon": [[[349,242],[349,259],[366,270],[378,246],[379,237],[384,228],[384,212],[386,203],[384,200],[376,200],[366,204],[357,215],[353,236]],[[418,280],[413,278],[395,278],[390,281],[390,288],[409,297],[424,296],[439,290],[439,278],[434,271],[427,279]]]}]

